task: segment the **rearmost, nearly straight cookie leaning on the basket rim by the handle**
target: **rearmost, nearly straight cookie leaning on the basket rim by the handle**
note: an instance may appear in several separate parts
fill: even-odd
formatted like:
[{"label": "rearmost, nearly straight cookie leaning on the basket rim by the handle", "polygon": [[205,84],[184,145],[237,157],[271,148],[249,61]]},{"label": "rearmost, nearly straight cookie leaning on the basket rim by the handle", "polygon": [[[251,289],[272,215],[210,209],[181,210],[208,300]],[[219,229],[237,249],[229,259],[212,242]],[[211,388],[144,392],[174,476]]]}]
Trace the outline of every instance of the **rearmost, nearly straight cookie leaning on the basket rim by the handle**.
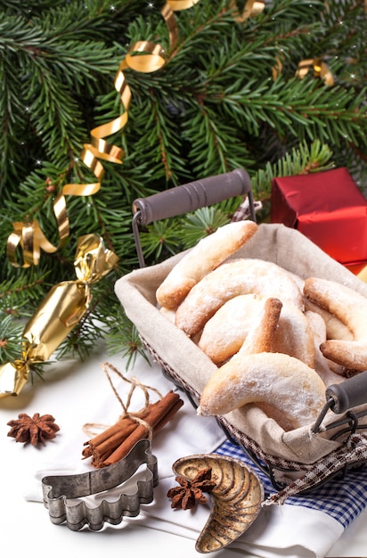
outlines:
[{"label": "rearmost, nearly straight cookie leaning on the basket rim by the handle", "polygon": [[224,259],[239,250],[257,232],[253,221],[236,221],[202,238],[172,268],[156,291],[161,306],[176,308],[192,287]]}]

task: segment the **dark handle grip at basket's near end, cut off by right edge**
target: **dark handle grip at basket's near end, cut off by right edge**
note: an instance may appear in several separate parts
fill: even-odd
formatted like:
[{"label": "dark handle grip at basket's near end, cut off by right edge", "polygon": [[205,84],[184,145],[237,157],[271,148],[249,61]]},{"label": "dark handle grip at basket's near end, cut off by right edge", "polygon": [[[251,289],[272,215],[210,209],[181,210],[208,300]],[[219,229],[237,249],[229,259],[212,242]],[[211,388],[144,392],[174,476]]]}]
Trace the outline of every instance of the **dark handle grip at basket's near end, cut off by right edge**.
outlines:
[{"label": "dark handle grip at basket's near end, cut off by right edge", "polygon": [[345,382],[329,386],[326,398],[333,400],[331,409],[336,414],[346,413],[348,409],[367,403],[367,370]]}]

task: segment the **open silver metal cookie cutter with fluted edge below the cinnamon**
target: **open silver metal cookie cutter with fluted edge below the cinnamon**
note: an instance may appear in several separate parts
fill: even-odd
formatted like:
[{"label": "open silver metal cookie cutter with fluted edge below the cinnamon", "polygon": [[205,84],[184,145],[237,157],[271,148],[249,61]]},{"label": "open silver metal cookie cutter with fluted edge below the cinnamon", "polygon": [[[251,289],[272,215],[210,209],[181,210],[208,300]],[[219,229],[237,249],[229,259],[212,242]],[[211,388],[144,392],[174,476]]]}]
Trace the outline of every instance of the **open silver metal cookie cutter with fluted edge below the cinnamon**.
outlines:
[{"label": "open silver metal cookie cutter with fluted edge below the cinnamon", "polygon": [[[109,502],[102,499],[100,505],[88,507],[86,502],[68,503],[68,499],[91,496],[116,488],[130,479],[142,464],[146,464],[146,480],[137,480],[133,494],[121,493],[118,500]],[[48,476],[42,479],[44,504],[50,519],[56,525],[64,521],[69,529],[77,531],[86,523],[97,531],[107,521],[118,525],[123,516],[136,517],[141,504],[150,504],[153,500],[153,488],[158,485],[157,458],[151,455],[151,442],[142,439],[135,444],[130,453],[116,464],[92,472],[75,475]]]}]

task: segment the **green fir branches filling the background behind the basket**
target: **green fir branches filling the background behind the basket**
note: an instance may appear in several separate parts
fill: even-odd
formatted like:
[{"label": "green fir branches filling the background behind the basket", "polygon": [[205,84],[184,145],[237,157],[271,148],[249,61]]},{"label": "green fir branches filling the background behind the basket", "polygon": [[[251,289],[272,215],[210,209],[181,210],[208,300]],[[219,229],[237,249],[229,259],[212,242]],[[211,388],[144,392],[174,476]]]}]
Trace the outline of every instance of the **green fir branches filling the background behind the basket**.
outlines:
[{"label": "green fir branches filling the background behind the basket", "polygon": [[[18,316],[31,316],[53,284],[75,278],[79,236],[102,234],[119,257],[116,271],[95,285],[93,316],[88,313],[58,358],[84,358],[103,336],[130,364],[142,350],[113,291],[114,280],[137,267],[135,198],[246,168],[263,201],[262,221],[269,216],[274,176],[347,166],[362,190],[366,184],[363,2],[277,0],[239,23],[227,0],[200,0],[175,13],[173,52],[163,4],[151,9],[141,0],[116,0],[112,9],[107,0],[0,0],[0,284],[6,292],[0,304],[12,316],[9,332],[10,322],[16,327]],[[67,196],[70,236],[62,250],[42,253],[37,268],[12,267],[6,257],[12,223],[37,218],[56,245],[54,196],[69,182],[95,180],[78,160],[80,150],[95,126],[124,110],[115,72],[129,45],[142,39],[163,45],[167,64],[153,73],[124,72],[132,92],[129,118],[109,138],[124,149],[122,164],[103,161],[102,187],[94,196]],[[334,86],[325,86],[312,69],[296,78],[298,63],[318,56],[325,57]],[[274,80],[278,60],[282,68]],[[240,203],[224,201],[146,227],[141,239],[149,263],[192,246]]]}]

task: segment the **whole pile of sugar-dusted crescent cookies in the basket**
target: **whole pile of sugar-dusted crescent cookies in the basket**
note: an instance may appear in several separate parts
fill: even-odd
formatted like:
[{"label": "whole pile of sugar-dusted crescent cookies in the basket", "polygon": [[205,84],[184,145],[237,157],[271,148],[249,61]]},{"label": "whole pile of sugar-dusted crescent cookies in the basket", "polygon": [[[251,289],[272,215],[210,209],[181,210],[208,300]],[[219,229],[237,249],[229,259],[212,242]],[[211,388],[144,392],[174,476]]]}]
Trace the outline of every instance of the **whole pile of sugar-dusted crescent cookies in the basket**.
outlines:
[{"label": "whole pile of sugar-dusted crescent cookies in the basket", "polygon": [[255,403],[292,430],[314,423],[326,386],[367,369],[367,299],[270,261],[236,258],[257,229],[252,221],[218,228],[185,253],[156,298],[217,366],[198,414]]}]

